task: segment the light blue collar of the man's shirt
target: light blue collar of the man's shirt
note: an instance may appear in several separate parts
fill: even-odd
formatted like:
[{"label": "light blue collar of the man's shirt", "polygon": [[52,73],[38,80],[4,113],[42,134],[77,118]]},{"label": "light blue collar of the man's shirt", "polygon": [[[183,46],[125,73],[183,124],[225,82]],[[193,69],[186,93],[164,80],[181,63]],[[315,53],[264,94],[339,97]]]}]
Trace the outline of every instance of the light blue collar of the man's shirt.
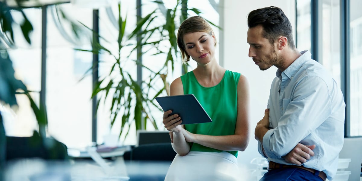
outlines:
[{"label": "light blue collar of the man's shirt", "polygon": [[300,67],[302,67],[305,62],[310,60],[312,56],[311,52],[309,52],[308,50],[301,51],[300,54],[302,55],[300,55],[292,64],[290,64],[290,66],[287,67],[286,70],[284,70],[283,72],[279,69],[277,70],[275,75],[277,75],[280,80],[282,80],[282,73],[284,73],[289,79],[291,79],[295,75],[295,73],[298,72]]}]

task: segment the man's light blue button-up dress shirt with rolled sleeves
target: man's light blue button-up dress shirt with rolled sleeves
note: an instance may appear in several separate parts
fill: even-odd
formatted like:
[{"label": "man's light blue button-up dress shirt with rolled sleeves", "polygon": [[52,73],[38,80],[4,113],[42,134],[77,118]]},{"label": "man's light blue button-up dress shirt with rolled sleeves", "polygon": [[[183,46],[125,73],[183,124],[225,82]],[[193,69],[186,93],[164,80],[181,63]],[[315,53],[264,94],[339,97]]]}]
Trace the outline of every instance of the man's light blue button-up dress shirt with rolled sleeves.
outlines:
[{"label": "man's light blue button-up dress shirt with rolled sleeves", "polygon": [[[344,139],[345,103],[341,89],[330,73],[300,52],[285,71],[277,71],[268,101],[270,130],[259,153],[275,163],[287,164],[287,155],[298,143],[316,145],[304,167],[323,171],[332,180]],[[279,93],[280,92],[280,93]]]}]

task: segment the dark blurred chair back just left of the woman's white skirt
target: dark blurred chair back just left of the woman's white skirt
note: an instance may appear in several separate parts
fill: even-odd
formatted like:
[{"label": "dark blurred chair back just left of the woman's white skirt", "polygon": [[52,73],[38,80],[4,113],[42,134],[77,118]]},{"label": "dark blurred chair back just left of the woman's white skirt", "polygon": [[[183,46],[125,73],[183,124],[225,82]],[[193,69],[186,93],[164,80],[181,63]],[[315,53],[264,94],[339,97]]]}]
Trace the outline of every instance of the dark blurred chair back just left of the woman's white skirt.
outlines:
[{"label": "dark blurred chair back just left of the woman's white skirt", "polygon": [[171,143],[142,144],[125,152],[124,160],[139,161],[172,161],[176,156]]}]

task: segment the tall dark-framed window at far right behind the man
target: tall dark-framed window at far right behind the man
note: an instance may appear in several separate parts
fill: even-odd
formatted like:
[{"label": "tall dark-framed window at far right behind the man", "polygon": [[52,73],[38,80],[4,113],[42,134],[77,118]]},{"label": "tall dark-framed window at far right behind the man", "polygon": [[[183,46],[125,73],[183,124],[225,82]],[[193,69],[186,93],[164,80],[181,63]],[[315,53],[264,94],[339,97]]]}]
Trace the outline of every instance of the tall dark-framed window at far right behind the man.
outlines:
[{"label": "tall dark-framed window at far right behind the man", "polygon": [[[345,136],[362,136],[362,12],[359,10],[362,2],[359,0],[296,0],[296,2],[297,47],[311,48],[312,52],[317,52],[318,62],[331,72],[344,92]],[[345,5],[345,2],[349,4]],[[310,13],[310,9],[315,10],[314,16]],[[341,22],[347,26],[340,24]],[[318,26],[311,28],[310,24]],[[313,41],[312,37],[319,41]]]}]

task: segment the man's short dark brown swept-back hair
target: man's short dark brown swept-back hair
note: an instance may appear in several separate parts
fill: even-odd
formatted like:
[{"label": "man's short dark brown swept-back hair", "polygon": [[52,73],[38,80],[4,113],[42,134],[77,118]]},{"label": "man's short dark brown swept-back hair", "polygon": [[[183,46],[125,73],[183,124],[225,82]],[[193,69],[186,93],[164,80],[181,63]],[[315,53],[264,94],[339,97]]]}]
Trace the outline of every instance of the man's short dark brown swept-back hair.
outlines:
[{"label": "man's short dark brown swept-back hair", "polygon": [[282,9],[278,7],[266,7],[253,10],[248,14],[248,26],[253,28],[261,25],[264,29],[264,38],[274,45],[280,36],[288,38],[288,45],[294,49],[292,25]]}]

